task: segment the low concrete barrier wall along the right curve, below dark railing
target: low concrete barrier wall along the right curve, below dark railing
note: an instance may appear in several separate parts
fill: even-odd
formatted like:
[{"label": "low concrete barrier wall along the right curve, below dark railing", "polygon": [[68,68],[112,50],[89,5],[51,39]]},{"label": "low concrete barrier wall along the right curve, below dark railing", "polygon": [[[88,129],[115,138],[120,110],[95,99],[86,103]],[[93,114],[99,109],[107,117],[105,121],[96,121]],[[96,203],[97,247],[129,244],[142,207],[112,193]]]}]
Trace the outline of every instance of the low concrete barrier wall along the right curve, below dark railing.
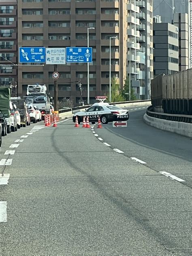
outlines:
[{"label": "low concrete barrier wall along the right curve, below dark railing", "polygon": [[175,132],[186,137],[192,138],[192,124],[186,124],[183,122],[167,121],[164,119],[158,119],[150,117],[147,114],[143,116],[143,120],[146,124],[154,126],[160,130],[166,130],[169,132]]}]

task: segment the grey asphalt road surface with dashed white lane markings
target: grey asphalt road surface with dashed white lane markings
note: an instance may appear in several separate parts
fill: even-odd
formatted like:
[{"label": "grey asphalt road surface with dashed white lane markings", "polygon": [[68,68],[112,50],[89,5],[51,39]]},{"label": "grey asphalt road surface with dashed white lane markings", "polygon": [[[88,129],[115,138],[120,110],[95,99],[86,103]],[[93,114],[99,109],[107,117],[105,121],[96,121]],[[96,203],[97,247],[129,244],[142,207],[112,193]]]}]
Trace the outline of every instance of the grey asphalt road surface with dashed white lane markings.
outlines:
[{"label": "grey asphalt road surface with dashed white lane markings", "polygon": [[144,113],[130,108],[127,128],[69,119],[3,138],[0,255],[192,255],[192,140]]}]

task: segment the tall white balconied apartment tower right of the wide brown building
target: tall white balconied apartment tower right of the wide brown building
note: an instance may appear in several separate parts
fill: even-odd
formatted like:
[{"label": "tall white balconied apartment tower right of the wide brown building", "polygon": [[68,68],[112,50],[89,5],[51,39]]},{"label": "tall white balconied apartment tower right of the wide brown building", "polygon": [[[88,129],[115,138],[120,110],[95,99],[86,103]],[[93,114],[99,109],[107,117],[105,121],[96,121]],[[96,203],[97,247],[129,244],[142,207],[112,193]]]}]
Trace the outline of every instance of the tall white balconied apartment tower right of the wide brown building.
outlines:
[{"label": "tall white balconied apartment tower right of the wide brown building", "polygon": [[[153,6],[152,0],[130,0],[128,7],[128,69],[134,94],[150,98],[153,78]],[[130,59],[131,58],[131,59]],[[131,68],[129,68],[129,65]]]}]

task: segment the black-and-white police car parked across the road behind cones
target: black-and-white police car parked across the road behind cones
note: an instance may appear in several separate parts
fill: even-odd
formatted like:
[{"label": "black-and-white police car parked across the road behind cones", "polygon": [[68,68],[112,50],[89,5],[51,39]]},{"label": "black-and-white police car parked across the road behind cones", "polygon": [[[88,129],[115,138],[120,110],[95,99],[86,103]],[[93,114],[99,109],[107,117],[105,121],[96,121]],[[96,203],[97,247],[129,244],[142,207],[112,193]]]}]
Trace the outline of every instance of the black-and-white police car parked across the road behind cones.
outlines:
[{"label": "black-and-white police car parked across the road behind cones", "polygon": [[104,102],[107,97],[96,97],[100,100],[98,103],[94,103],[91,107],[85,111],[77,112],[73,115],[73,122],[75,122],[76,117],[78,118],[78,123],[83,122],[83,117],[89,117],[89,121],[92,124],[98,122],[98,117],[102,124],[107,124],[113,121],[126,121],[129,119],[129,111],[126,109],[121,109],[114,105],[109,105],[109,103]]}]

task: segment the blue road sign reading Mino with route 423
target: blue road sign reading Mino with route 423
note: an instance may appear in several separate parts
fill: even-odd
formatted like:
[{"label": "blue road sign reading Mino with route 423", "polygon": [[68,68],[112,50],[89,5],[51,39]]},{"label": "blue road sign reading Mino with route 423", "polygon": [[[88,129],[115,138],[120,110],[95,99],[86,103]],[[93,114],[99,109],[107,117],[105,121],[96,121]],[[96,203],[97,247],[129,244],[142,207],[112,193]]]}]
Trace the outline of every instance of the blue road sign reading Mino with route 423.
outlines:
[{"label": "blue road sign reading Mino with route 423", "polygon": [[66,62],[92,62],[92,47],[66,47]]}]

